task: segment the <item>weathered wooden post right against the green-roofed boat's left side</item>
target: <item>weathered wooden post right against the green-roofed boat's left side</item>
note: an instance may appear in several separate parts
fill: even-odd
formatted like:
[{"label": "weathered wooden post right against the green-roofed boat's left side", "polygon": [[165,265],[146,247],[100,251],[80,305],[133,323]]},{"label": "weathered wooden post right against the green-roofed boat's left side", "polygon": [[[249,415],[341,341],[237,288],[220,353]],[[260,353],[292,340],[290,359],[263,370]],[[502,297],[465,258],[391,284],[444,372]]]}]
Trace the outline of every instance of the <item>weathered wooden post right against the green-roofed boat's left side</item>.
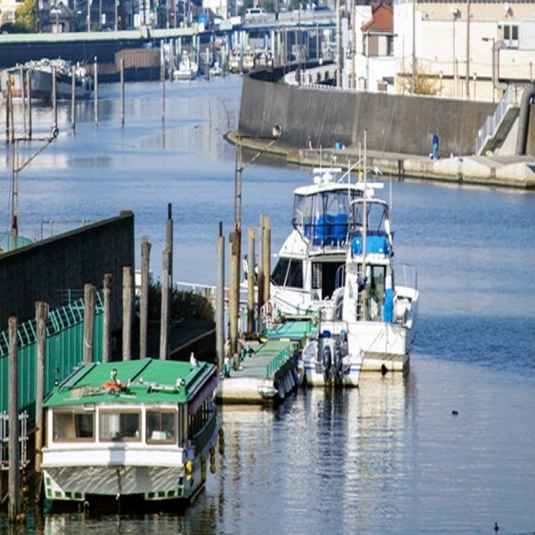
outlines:
[{"label": "weathered wooden post right against the green-roofed boat's left side", "polygon": [[41,499],[43,461],[43,399],[45,397],[45,350],[46,350],[46,321],[48,319],[48,305],[44,301],[36,303],[37,326],[37,362],[36,362],[36,486],[35,498]]}]

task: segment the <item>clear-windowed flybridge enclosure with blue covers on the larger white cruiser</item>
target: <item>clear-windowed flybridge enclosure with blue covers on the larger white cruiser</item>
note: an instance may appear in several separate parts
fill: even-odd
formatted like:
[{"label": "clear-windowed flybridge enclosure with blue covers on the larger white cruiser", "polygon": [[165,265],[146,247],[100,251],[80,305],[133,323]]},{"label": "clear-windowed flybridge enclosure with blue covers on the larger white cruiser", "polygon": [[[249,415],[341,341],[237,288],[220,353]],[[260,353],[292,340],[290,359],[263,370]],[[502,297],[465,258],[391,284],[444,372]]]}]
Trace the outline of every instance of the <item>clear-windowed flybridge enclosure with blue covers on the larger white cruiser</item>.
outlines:
[{"label": "clear-windowed flybridge enclosure with blue covers on the larger white cruiser", "polygon": [[312,194],[296,193],[292,225],[315,245],[346,241],[351,201],[361,197],[358,190],[333,189]]}]

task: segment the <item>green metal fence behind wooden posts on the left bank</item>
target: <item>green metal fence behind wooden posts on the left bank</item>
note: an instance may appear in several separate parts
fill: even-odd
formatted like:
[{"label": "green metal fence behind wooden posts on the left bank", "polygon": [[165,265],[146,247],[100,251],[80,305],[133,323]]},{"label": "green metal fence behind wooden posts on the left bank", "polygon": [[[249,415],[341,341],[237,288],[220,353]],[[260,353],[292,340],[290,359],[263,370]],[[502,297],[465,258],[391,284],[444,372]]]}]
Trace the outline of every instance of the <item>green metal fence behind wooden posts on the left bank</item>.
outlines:
[{"label": "green metal fence behind wooden posts on the left bank", "polygon": [[[102,360],[103,355],[103,300],[96,292],[95,339],[93,359]],[[35,419],[36,402],[36,320],[18,326],[19,342],[19,410],[29,412],[30,421]],[[83,359],[84,300],[73,300],[69,305],[53,309],[46,323],[45,345],[45,394],[52,390],[55,379],[62,381]],[[7,411],[9,402],[9,333],[0,333],[0,413]]]}]

